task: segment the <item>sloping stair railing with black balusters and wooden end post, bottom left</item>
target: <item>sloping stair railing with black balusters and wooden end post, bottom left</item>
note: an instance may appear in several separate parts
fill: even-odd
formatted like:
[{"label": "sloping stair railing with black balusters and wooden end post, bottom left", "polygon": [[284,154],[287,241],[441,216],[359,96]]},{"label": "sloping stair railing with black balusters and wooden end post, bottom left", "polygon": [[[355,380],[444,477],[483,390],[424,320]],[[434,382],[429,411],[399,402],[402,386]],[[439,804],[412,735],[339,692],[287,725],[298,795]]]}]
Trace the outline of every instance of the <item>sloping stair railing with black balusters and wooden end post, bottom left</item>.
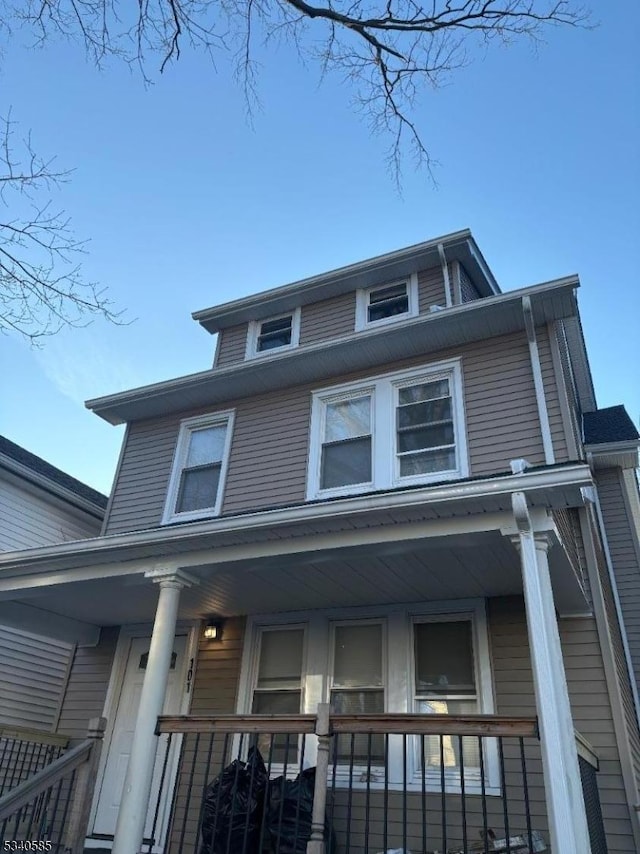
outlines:
[{"label": "sloping stair railing with black balusters and wooden end post, bottom left", "polygon": [[7,851],[83,850],[104,724],[92,721],[85,741],[0,797],[0,843],[9,844]]}]

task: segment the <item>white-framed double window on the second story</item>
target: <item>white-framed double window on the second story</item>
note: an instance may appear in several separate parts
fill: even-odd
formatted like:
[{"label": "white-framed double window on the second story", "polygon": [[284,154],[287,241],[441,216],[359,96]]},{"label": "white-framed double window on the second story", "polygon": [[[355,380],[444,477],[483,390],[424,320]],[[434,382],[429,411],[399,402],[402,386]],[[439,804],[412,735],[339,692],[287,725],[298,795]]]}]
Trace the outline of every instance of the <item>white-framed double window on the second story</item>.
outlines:
[{"label": "white-framed double window on the second story", "polygon": [[458,361],[313,395],[308,500],[467,473]]}]

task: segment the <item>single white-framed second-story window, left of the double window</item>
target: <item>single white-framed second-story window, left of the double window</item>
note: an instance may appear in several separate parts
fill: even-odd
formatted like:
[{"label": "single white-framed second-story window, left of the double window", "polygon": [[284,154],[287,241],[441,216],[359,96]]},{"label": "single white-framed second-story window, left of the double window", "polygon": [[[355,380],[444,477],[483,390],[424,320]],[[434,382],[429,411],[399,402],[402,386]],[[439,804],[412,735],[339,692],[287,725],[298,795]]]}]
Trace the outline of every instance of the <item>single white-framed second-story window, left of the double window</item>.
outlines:
[{"label": "single white-framed second-story window, left of the double window", "polygon": [[232,430],[233,412],[188,418],[180,424],[164,523],[220,513]]}]

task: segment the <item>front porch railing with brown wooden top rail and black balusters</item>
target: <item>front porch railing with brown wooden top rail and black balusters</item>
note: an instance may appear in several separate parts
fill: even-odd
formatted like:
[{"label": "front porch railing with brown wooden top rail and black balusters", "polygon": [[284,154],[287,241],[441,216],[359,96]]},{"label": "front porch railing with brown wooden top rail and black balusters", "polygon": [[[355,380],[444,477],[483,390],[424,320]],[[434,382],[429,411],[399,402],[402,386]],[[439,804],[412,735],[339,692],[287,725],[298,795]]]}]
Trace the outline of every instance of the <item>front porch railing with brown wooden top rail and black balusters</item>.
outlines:
[{"label": "front porch railing with brown wooden top rail and black balusters", "polygon": [[312,715],[162,717],[157,732],[148,852],[303,854],[310,837],[329,854],[548,850],[535,719],[330,715],[323,730]]}]

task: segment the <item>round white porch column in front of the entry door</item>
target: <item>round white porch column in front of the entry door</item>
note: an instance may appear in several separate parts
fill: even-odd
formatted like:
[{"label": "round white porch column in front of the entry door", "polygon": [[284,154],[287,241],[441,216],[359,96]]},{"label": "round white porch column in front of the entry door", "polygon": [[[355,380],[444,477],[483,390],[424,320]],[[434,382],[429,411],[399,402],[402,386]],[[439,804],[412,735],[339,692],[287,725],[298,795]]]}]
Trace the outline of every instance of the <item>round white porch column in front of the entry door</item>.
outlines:
[{"label": "round white porch column in front of the entry door", "polygon": [[156,758],[156,719],[162,714],[171,653],[178,619],[180,591],[194,579],[177,569],[152,569],[145,573],[160,586],[151,635],[149,659],[142,683],[127,775],[113,840],[113,854],[138,854],[142,848]]}]

